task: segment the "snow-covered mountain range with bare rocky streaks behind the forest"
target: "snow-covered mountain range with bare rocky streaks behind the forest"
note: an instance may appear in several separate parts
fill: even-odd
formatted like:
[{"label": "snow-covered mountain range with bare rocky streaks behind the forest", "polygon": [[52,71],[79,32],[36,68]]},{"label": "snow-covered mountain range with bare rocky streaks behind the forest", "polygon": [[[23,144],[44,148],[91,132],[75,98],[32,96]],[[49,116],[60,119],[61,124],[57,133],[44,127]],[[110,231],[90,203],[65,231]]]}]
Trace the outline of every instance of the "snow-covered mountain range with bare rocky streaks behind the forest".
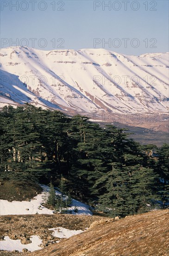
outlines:
[{"label": "snow-covered mountain range with bare rocky streaks behind the forest", "polygon": [[169,53],[140,56],[105,49],[0,51],[0,107],[25,102],[69,114],[166,113]]}]

